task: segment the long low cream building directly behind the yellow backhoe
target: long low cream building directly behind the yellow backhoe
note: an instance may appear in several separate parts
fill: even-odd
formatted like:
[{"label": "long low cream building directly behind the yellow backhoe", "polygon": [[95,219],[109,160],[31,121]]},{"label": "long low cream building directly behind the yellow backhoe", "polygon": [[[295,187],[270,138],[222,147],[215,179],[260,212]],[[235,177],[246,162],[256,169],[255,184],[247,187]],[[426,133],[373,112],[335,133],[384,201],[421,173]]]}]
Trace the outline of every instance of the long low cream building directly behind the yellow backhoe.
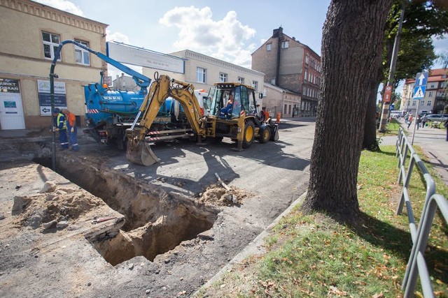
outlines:
[{"label": "long low cream building directly behind the yellow backhoe", "polygon": [[195,85],[195,89],[209,90],[216,82],[240,82],[255,88],[256,92],[261,92],[264,80],[264,73],[244,68],[236,64],[231,64],[220,59],[209,57],[204,54],[183,50],[170,55],[182,58],[185,61],[185,73],[172,73],[165,70],[155,70],[153,68],[143,68],[142,73],[153,78],[157,71],[159,74],[169,75],[182,82]]}]

